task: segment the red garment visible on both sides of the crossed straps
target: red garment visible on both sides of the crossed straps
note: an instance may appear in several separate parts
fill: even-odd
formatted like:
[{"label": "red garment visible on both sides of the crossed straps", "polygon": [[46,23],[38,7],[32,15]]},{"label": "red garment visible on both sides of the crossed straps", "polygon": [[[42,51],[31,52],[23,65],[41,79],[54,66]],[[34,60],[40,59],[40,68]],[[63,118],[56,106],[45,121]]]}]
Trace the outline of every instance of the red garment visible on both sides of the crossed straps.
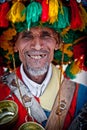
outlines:
[{"label": "red garment visible on both sides of the crossed straps", "polygon": [[[16,74],[20,79],[22,79],[19,68],[17,69]],[[66,130],[66,128],[68,128],[68,125],[70,124],[72,117],[74,115],[77,93],[78,93],[78,86],[76,87],[76,91],[74,93],[71,107],[70,107],[69,112],[66,116],[63,130]],[[5,99],[5,97],[8,96],[9,94],[10,94],[10,89],[8,88],[8,86],[0,84],[0,101]],[[14,94],[13,94],[13,97],[14,97],[14,101],[18,104],[18,121],[12,130],[17,130],[19,128],[19,126],[25,122],[25,117],[27,115],[27,111]],[[38,98],[36,98],[36,99],[39,101]],[[9,98],[9,100],[12,100],[12,99]],[[70,117],[70,115],[72,115],[72,116]],[[29,121],[30,120],[31,120],[31,118],[29,118]]]}]

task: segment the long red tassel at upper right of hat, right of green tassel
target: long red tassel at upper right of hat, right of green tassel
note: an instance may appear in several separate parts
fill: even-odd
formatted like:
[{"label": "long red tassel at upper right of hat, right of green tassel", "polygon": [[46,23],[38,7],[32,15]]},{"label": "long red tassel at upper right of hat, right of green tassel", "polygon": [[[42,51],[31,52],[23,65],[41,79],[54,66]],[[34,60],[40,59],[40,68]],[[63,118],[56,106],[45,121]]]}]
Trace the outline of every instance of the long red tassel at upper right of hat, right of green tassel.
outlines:
[{"label": "long red tassel at upper right of hat, right of green tassel", "polygon": [[82,20],[79,13],[79,7],[76,0],[70,0],[71,7],[71,29],[78,29],[82,27]]}]

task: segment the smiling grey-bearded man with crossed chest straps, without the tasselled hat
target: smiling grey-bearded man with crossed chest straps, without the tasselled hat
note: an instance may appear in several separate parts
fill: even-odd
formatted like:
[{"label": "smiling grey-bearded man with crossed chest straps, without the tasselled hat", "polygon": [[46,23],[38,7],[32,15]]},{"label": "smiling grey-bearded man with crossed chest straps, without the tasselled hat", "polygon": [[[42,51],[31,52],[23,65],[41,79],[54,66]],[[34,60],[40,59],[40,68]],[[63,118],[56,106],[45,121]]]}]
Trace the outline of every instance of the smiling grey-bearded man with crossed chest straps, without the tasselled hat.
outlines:
[{"label": "smiling grey-bearded man with crossed chest straps, without the tasselled hat", "polygon": [[[64,90],[60,89],[61,73],[52,64],[60,43],[58,32],[47,26],[39,25],[18,33],[14,51],[19,52],[22,64],[15,74],[6,76],[7,85],[0,87],[0,100],[14,100],[18,104],[18,120],[12,130],[26,121],[38,122],[47,130],[67,130],[87,102],[87,88],[82,85],[66,79],[62,84]],[[83,95],[85,98],[81,100]]]}]

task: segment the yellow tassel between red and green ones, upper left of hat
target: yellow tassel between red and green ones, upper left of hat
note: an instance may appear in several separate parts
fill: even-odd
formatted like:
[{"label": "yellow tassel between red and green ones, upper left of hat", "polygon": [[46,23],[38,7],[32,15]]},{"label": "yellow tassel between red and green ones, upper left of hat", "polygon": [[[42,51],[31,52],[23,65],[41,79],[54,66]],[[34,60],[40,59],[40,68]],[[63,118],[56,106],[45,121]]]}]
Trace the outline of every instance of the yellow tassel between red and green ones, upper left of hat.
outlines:
[{"label": "yellow tassel between red and green ones, upper left of hat", "polygon": [[10,11],[7,14],[7,18],[9,21],[15,22],[23,22],[25,20],[25,14],[22,14],[22,11],[25,9],[24,4],[21,2],[15,2]]}]

